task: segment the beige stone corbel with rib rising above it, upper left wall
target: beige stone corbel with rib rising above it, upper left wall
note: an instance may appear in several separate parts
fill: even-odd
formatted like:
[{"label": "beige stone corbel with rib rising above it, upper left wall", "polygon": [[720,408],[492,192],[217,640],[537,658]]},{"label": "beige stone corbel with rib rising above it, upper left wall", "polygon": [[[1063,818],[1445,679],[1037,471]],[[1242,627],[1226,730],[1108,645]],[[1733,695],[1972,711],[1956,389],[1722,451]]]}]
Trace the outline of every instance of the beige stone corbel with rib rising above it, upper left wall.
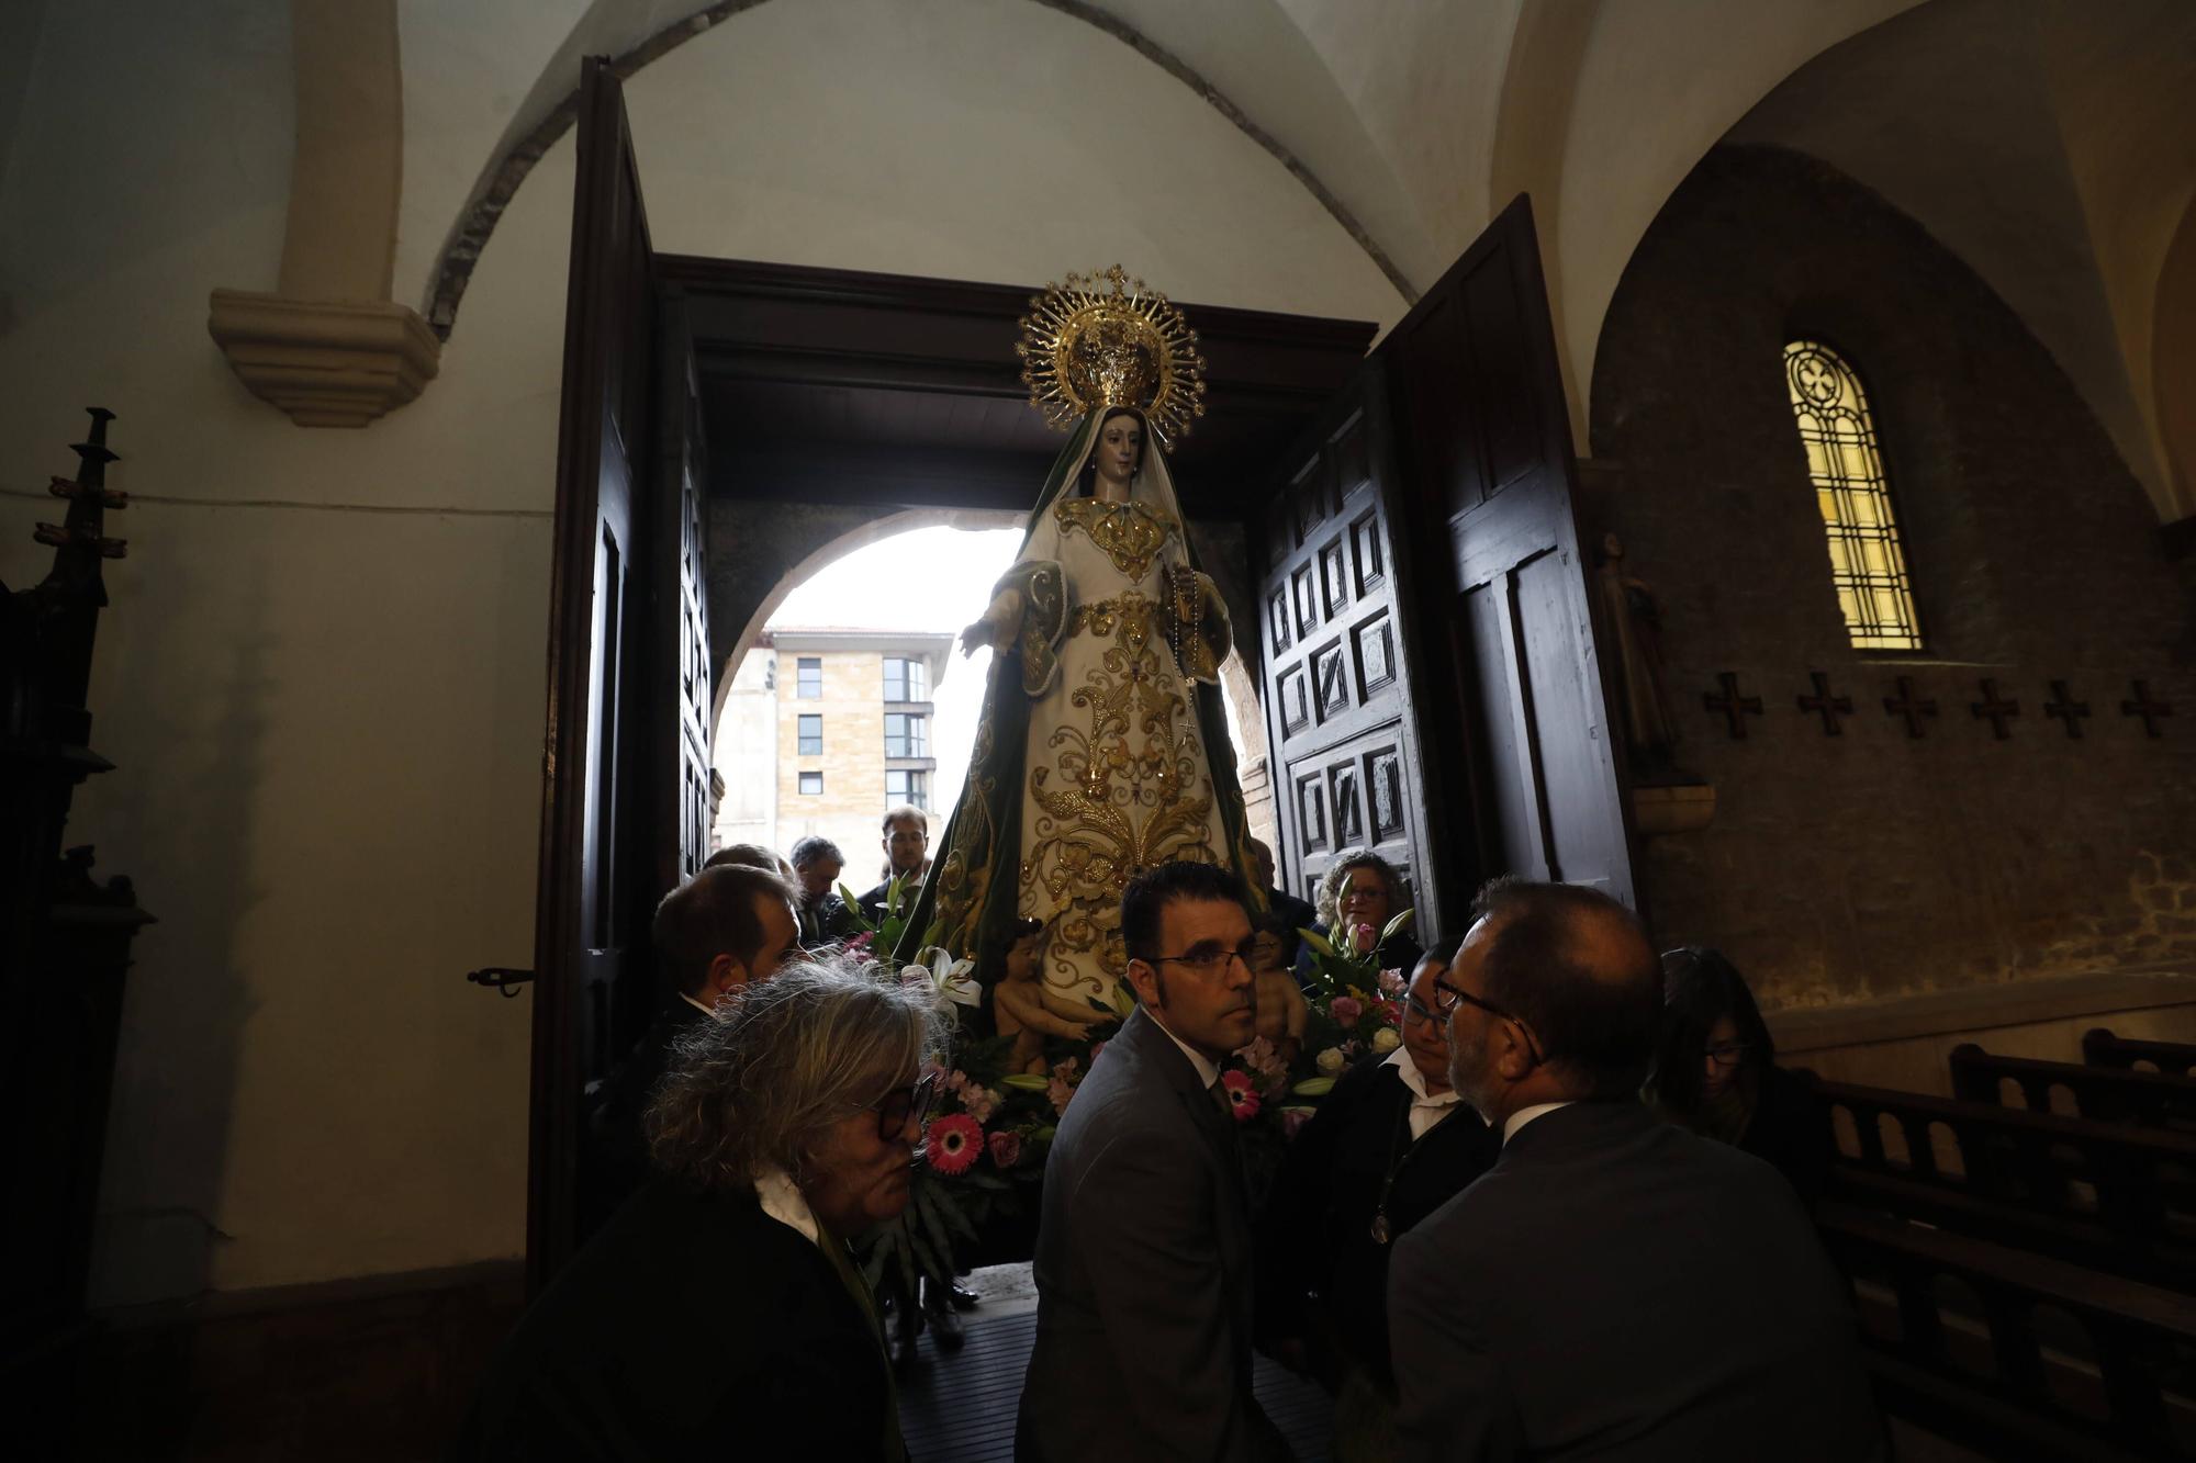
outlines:
[{"label": "beige stone corbel with rib rising above it, upper left wall", "polygon": [[404,180],[395,0],[292,0],[296,160],[272,294],[215,290],[206,334],[299,426],[365,426],[419,395],[441,340],[389,299]]}]

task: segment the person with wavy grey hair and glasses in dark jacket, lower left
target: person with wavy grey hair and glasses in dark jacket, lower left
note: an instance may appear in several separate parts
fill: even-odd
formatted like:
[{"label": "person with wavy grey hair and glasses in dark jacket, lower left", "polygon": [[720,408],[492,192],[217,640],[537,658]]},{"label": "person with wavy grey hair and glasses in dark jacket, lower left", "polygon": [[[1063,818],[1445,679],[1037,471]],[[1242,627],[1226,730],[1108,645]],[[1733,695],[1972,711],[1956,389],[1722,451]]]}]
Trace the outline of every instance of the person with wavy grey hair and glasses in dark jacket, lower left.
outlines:
[{"label": "person with wavy grey hair and glasses in dark jacket, lower left", "polygon": [[455,1459],[876,1459],[898,1404],[845,1239],[907,1206],[931,997],[848,960],[679,1037],[654,1175],[503,1342]]}]

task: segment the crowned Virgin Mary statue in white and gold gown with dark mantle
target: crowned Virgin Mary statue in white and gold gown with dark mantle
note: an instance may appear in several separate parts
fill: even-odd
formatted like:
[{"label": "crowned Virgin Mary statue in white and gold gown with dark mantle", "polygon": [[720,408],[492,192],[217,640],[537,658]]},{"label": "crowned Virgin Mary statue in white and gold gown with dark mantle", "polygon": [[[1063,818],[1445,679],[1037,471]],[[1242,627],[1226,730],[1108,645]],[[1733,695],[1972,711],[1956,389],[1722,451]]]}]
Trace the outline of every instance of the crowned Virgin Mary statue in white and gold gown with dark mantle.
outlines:
[{"label": "crowned Virgin Mary statue in white and gold gown with dark mantle", "polygon": [[[1197,334],[1120,266],[1021,321],[1023,382],[1072,431],[1015,567],[962,652],[993,648],[968,782],[905,925],[995,984],[1039,934],[1045,1010],[1127,1010],[1120,896],[1175,859],[1254,868],[1219,692],[1230,628],[1197,569],[1164,448],[1203,415]],[[918,934],[920,931],[920,934]]]}]

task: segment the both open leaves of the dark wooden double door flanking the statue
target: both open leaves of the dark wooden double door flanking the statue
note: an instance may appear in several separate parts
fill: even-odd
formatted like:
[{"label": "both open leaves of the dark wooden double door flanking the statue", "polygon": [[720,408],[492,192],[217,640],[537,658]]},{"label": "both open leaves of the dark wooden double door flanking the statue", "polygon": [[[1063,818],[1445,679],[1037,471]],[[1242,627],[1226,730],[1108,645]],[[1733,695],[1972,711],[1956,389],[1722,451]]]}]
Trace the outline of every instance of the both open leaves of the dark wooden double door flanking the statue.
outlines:
[{"label": "both open leaves of the dark wooden double door flanking the statue", "polygon": [[[536,1285],[580,1239],[582,1094],[668,995],[650,909],[707,852],[707,470],[690,321],[650,248],[617,79],[589,62],[542,742]],[[1632,901],[1522,198],[1311,417],[1269,492],[1250,496],[1261,613],[1254,633],[1239,626],[1258,650],[1282,879],[1309,896],[1340,852],[1372,848],[1403,870],[1425,938],[1463,934],[1474,887],[1498,872]]]}]

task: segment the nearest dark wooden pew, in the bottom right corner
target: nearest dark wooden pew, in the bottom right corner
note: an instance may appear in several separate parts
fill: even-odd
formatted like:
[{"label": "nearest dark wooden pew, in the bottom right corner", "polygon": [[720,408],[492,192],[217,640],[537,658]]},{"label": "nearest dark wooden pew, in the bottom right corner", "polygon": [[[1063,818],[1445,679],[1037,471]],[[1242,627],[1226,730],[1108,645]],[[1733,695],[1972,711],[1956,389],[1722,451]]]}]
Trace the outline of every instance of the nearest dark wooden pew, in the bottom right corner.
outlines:
[{"label": "nearest dark wooden pew, in the bottom right corner", "polygon": [[1992,1459],[2192,1456],[2196,1298],[1842,1204],[1820,1226],[1884,1410]]}]

